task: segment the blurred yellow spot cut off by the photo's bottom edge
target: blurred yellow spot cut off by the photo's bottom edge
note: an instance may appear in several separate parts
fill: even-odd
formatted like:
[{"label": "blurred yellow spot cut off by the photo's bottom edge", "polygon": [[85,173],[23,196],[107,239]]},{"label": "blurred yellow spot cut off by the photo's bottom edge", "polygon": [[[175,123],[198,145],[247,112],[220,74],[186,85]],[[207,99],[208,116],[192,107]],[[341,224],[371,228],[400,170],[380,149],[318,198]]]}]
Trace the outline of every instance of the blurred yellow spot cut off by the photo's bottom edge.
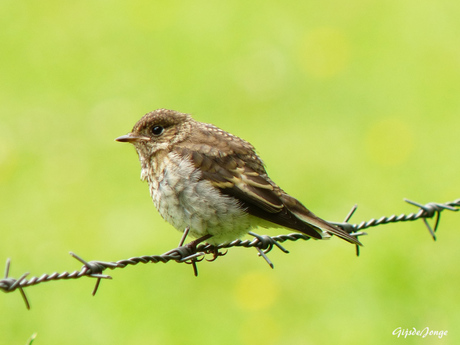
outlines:
[{"label": "blurred yellow spot cut off by the photo's bottom edge", "polygon": [[240,331],[241,344],[280,344],[280,327],[271,315],[256,314],[243,320]]}]

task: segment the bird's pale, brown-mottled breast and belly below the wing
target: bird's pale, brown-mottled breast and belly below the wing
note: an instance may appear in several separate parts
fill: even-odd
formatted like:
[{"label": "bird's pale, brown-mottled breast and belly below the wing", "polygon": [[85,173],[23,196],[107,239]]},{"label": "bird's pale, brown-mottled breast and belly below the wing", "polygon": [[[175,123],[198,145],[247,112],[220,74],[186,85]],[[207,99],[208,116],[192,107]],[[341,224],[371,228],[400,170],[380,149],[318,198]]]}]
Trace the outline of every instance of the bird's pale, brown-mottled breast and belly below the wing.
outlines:
[{"label": "bird's pale, brown-mottled breast and belly below the wing", "polygon": [[188,157],[170,153],[147,169],[153,203],[176,229],[189,227],[194,237],[211,234],[216,243],[234,240],[249,230],[249,217],[238,201],[203,179]]}]

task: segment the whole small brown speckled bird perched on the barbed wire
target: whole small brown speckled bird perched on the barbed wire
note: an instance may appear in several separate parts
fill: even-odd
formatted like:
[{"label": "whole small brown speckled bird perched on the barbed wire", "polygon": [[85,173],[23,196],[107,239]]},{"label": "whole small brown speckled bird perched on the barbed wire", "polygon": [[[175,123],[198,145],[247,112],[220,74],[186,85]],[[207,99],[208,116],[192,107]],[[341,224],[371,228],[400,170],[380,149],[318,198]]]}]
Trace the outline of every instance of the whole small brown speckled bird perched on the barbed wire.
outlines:
[{"label": "whole small brown speckled bird perched on the barbed wire", "polygon": [[161,216],[179,231],[189,228],[195,238],[220,244],[257,226],[281,226],[361,245],[278,187],[250,143],[214,125],[158,109],[115,140],[136,148],[141,179]]}]

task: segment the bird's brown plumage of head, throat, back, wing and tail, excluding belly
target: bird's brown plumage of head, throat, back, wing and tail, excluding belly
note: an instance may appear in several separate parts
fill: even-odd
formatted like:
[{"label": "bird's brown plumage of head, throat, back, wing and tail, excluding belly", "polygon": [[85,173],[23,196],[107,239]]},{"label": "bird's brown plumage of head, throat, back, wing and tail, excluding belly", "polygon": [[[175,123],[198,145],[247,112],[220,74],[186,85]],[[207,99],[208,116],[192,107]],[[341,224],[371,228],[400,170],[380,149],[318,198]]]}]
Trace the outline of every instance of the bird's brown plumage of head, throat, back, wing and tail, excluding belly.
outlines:
[{"label": "bird's brown plumage of head, throat, back, wing and tail, excluding belly", "polygon": [[[155,126],[161,132],[154,133]],[[166,171],[168,154],[174,151],[190,159],[200,171],[201,179],[209,181],[222,194],[237,199],[247,213],[314,238],[322,238],[323,230],[360,245],[356,238],[318,218],[278,187],[268,177],[250,143],[214,125],[195,121],[188,114],[158,109],[143,116],[129,135],[117,140],[135,145],[143,179],[158,182],[163,178],[160,175]],[[183,179],[186,181],[187,177]],[[158,186],[151,181],[149,185],[154,198]],[[238,205],[235,208],[241,211]]]}]

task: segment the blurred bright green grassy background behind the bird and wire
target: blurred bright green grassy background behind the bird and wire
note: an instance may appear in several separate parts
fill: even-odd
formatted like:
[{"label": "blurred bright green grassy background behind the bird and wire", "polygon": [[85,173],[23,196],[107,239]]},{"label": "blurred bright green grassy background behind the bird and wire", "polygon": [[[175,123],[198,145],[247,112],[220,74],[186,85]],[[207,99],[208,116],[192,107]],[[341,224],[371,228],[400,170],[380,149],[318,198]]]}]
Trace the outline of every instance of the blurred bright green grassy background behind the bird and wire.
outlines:
[{"label": "blurred bright green grassy background behind the bird and wire", "polygon": [[[415,212],[459,193],[460,3],[0,2],[0,261],[11,276],[161,254],[132,147],[171,108],[251,141],[270,176],[319,216]],[[354,248],[234,249],[216,262],[140,265],[0,297],[0,343],[459,344],[458,214],[435,243],[421,221]],[[279,230],[260,230],[275,235]],[[448,330],[401,340],[397,327]]]}]

